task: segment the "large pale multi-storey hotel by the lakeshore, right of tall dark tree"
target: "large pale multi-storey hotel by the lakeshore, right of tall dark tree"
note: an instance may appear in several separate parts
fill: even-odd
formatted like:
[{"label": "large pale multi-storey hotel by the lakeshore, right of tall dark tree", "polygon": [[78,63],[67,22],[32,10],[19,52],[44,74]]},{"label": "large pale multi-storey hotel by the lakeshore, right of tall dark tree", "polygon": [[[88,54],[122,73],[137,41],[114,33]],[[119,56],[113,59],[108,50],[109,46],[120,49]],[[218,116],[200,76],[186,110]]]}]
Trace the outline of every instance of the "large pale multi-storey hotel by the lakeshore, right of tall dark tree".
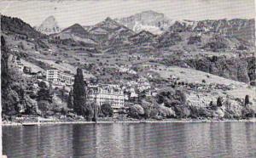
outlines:
[{"label": "large pale multi-storey hotel by the lakeshore, right of tall dark tree", "polygon": [[96,100],[96,104],[110,104],[113,112],[118,112],[124,107],[125,95],[119,85],[101,84],[88,86],[89,99]]}]

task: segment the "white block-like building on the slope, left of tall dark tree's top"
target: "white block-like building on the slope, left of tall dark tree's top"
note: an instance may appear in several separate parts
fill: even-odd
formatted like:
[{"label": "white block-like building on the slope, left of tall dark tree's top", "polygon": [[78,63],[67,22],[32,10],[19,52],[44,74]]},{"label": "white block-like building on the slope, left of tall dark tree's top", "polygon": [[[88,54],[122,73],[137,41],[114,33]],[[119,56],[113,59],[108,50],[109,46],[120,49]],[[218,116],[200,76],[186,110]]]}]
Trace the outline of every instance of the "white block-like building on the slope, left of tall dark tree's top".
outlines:
[{"label": "white block-like building on the slope, left of tall dark tree's top", "polygon": [[54,84],[73,85],[74,77],[70,71],[60,71],[54,67],[46,71],[46,80]]}]

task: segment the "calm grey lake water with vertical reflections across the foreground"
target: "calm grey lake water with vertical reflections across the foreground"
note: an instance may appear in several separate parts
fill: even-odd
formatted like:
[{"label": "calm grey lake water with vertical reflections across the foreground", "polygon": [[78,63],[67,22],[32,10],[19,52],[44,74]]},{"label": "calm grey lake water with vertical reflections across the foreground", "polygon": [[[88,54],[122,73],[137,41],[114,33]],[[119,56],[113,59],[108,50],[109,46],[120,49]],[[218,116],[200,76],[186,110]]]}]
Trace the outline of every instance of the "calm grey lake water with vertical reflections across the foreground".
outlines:
[{"label": "calm grey lake water with vertical reflections across the foreground", "polygon": [[3,127],[9,157],[256,157],[256,123]]}]

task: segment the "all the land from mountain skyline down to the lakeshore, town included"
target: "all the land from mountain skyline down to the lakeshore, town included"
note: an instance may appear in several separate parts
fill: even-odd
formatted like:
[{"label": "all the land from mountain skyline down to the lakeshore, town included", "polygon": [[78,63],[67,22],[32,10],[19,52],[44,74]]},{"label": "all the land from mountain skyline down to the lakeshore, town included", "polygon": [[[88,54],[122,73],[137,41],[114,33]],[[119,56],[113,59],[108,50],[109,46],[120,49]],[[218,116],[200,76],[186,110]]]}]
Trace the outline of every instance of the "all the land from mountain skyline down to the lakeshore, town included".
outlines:
[{"label": "all the land from mountain skyline down to the lakeshore, town included", "polygon": [[3,122],[252,118],[253,28],[154,11],[67,28],[3,15]]}]

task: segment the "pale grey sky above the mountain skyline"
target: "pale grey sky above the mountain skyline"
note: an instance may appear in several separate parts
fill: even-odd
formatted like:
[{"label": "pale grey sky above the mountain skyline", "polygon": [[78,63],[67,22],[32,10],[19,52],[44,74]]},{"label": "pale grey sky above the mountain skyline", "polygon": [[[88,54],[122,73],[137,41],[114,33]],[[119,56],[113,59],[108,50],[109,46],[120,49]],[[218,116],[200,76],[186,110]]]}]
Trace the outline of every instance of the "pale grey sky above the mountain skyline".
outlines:
[{"label": "pale grey sky above the mountain skyline", "polygon": [[0,0],[0,12],[34,26],[54,15],[61,27],[94,25],[107,17],[121,18],[146,10],[173,20],[250,19],[254,0]]}]

